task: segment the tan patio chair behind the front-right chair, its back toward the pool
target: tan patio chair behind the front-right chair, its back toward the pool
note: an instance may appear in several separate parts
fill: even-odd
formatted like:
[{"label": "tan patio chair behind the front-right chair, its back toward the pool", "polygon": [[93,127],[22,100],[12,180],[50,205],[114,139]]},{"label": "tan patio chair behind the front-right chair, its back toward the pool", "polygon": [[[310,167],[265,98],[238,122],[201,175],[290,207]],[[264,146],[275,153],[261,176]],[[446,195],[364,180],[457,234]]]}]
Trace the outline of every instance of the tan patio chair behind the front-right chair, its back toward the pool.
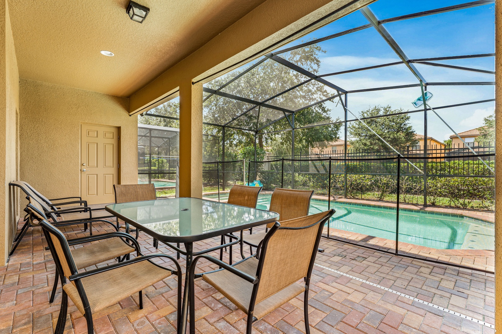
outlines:
[{"label": "tan patio chair behind the front-right chair, its back toward the pool", "polygon": [[[306,216],[309,214],[310,199],[313,193],[313,190],[276,188],[270,199],[269,210],[279,213],[279,221]],[[274,223],[267,224],[266,231],[273,225]],[[244,258],[244,243],[249,246],[250,252],[253,254],[253,247],[258,248],[264,237],[265,233],[253,234],[253,229],[249,230],[249,234],[240,231],[242,258]]]}]

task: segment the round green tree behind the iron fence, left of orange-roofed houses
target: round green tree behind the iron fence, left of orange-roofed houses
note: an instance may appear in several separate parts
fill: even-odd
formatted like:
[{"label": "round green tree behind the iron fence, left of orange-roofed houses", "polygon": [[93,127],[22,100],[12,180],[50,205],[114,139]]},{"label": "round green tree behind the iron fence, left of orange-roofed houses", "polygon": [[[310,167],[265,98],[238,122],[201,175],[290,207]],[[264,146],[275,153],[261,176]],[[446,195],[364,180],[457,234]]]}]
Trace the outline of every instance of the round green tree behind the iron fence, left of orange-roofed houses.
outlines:
[{"label": "round green tree behind the iron fence, left of orange-roofed houses", "polygon": [[[392,109],[391,106],[374,106],[360,113],[359,118],[382,116],[403,112],[403,109]],[[416,145],[415,131],[410,124],[408,114],[364,120],[374,132],[382,137],[396,150],[405,150],[408,145]],[[351,122],[348,127],[350,145],[353,149],[363,151],[392,152],[392,149],[359,121]]]}]

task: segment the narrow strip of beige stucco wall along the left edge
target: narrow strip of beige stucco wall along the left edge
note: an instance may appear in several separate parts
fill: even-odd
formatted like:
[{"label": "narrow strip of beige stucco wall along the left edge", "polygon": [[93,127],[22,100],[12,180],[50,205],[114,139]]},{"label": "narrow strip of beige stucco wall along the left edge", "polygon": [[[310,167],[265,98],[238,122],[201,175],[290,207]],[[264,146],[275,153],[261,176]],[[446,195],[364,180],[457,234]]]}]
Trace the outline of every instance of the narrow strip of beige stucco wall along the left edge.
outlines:
[{"label": "narrow strip of beige stucco wall along the left edge", "polygon": [[9,194],[9,182],[17,178],[17,124],[16,111],[19,109],[19,72],[14,50],[9,8],[6,1],[0,3],[0,212],[4,222],[0,224],[0,263],[5,263],[16,231],[16,193]]}]

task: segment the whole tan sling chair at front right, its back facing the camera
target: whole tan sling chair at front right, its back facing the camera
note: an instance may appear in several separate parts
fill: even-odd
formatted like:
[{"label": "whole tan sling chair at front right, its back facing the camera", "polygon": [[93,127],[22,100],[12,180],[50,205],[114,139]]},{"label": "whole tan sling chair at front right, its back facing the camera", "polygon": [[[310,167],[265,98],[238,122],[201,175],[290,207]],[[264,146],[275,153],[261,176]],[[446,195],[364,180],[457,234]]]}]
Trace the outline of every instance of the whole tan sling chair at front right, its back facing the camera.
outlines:
[{"label": "whole tan sling chair at front right, its back facing the camera", "polygon": [[[324,224],[334,212],[331,209],[274,223],[264,233],[262,246],[258,249],[260,254],[233,266],[210,255],[195,257],[189,275],[190,332],[195,332],[194,279],[202,277],[247,314],[248,334],[252,332],[254,321],[304,292],[305,329],[309,334],[310,277]],[[201,258],[223,269],[195,275],[196,264]],[[298,283],[299,280],[302,280],[302,284]],[[185,315],[186,310],[182,316]]]}]

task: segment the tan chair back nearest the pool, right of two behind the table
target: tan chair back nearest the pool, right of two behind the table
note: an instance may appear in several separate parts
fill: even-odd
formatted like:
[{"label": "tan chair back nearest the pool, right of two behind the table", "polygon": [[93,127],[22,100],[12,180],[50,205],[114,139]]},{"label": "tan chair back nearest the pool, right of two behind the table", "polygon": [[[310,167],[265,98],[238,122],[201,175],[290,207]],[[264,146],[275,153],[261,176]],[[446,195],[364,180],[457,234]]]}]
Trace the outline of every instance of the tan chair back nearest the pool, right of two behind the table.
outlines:
[{"label": "tan chair back nearest the pool, right of two behind the table", "polygon": [[[309,214],[313,190],[276,188],[270,199],[270,211],[279,213],[279,221],[303,217]],[[267,224],[268,228],[274,223]]]}]

